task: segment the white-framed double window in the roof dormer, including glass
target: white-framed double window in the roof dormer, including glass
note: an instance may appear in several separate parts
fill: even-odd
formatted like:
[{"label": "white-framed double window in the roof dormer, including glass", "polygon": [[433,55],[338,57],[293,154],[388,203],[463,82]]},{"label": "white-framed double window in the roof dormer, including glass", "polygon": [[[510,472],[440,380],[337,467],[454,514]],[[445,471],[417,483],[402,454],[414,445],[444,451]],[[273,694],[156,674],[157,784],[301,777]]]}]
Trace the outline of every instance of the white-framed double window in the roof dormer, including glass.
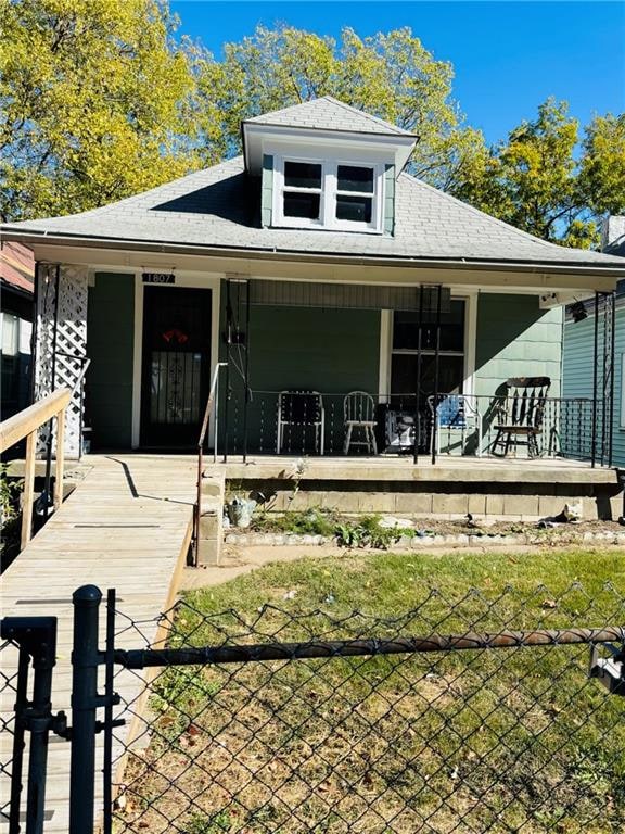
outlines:
[{"label": "white-framed double window in the roof dormer, including glass", "polygon": [[380,163],[276,159],[276,226],[382,231]]}]

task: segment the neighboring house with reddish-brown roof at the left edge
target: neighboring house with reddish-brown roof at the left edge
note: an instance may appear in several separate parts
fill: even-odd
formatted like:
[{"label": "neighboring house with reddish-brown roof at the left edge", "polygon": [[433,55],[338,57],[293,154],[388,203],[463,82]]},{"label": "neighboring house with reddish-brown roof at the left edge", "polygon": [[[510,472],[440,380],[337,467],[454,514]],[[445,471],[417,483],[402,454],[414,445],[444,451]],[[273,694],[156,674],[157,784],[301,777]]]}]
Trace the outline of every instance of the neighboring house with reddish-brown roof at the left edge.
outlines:
[{"label": "neighboring house with reddish-brown roof at the left edge", "polygon": [[21,243],[0,241],[2,419],[30,403],[35,258]]}]

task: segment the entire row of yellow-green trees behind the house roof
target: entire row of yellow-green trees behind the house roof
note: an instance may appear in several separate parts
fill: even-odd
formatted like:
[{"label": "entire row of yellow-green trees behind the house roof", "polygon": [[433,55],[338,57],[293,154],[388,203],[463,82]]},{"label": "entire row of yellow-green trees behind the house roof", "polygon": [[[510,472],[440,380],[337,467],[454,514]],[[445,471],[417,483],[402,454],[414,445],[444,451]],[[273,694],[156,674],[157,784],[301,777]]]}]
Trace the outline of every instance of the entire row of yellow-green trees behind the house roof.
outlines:
[{"label": "entire row of yellow-green trees behind the house roof", "polygon": [[176,40],[167,0],[0,0],[0,213],[85,211],[241,150],[241,122],[332,94],[419,136],[409,170],[538,237],[598,241],[625,212],[625,116],[548,100],[486,148],[454,71],[409,28],[335,40],[258,26],[217,60]]}]

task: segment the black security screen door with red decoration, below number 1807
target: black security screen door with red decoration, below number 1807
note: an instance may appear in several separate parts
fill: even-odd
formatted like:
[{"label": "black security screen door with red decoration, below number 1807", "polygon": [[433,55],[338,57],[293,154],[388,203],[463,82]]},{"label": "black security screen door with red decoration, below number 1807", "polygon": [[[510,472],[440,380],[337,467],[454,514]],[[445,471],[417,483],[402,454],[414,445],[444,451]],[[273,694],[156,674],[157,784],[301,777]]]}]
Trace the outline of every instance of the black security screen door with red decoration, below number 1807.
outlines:
[{"label": "black security screen door with red decoration, below number 1807", "polygon": [[141,445],[196,444],[209,367],[211,290],[145,287]]}]

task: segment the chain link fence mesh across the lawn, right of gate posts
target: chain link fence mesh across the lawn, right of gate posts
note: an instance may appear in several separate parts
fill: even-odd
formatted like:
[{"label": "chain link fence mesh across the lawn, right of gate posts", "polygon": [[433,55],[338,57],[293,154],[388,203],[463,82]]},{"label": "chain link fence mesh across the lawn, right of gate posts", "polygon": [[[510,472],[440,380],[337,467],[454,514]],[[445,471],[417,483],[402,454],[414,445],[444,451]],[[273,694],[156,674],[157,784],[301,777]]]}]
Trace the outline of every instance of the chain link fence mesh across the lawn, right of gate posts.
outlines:
[{"label": "chain link fence mesh across the lawn, right of gate posts", "polygon": [[137,650],[117,674],[140,685],[115,731],[113,831],[621,832],[625,699],[589,677],[589,644],[621,645],[624,622],[616,589],[576,584],[432,590],[388,618],[181,602],[157,645],[119,610]]}]

